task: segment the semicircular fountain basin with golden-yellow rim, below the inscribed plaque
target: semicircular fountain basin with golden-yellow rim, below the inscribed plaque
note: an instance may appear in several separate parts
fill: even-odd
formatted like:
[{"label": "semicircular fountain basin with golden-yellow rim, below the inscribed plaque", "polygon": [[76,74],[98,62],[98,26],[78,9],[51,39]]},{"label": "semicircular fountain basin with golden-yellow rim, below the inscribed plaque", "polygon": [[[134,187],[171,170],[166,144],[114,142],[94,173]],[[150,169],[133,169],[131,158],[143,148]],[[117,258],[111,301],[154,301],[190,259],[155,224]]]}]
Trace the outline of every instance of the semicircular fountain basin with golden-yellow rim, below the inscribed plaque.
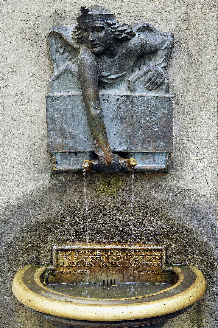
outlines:
[{"label": "semicircular fountain basin with golden-yellow rim, below the inscribed plaque", "polygon": [[[115,247],[114,245],[113,248]],[[123,245],[123,249],[125,247],[127,248],[127,246]],[[96,249],[96,244],[93,247]],[[102,246],[99,247],[102,248]],[[140,247],[143,246],[141,245]],[[56,258],[55,265],[57,268],[57,256],[54,250],[53,256]],[[115,279],[106,280],[103,278],[112,277],[111,275],[114,272],[114,277],[117,279],[116,284],[119,285],[125,282],[122,279],[128,277],[126,271],[128,272],[129,270],[130,272],[131,268],[121,270],[122,261],[120,263],[120,268],[116,269],[113,266],[105,272],[101,267],[95,269],[93,272],[89,269],[90,279],[92,279],[91,274],[93,274],[98,284],[102,281],[102,285],[107,285],[107,282],[113,285]],[[62,265],[61,261],[59,265]],[[68,283],[68,280],[72,284],[72,275],[67,271],[67,273],[63,271],[64,275],[59,275],[60,271],[55,271],[53,266],[37,264],[26,265],[16,273],[12,283],[12,290],[14,295],[32,313],[52,321],[59,328],[72,326],[87,328],[146,326],[147,328],[159,328],[168,319],[187,311],[202,297],[206,289],[204,276],[199,269],[192,265],[176,265],[165,269],[168,269],[167,274],[163,275],[165,281],[161,280],[163,278],[160,278],[163,273],[162,271],[158,272],[157,269],[153,271],[153,283],[155,282],[155,288],[159,291],[148,293],[148,295],[140,294],[138,296],[136,294],[122,298],[105,298],[105,296],[104,298],[95,298],[91,297],[91,295],[89,297],[78,297],[72,293],[68,293],[66,288],[64,293],[61,293],[60,289],[59,291],[57,291],[58,289],[55,290],[55,284]],[[120,270],[119,274],[116,273],[118,272],[117,270]],[[150,273],[151,271],[146,272]],[[108,273],[108,276],[105,276],[106,273]],[[134,273],[137,273],[134,276],[134,281],[138,277],[139,282],[151,283],[151,280],[149,280],[151,279],[149,278],[151,275],[138,275],[138,271],[134,271]],[[79,274],[75,277],[78,276],[81,278]],[[79,282],[78,279],[76,281],[77,283]],[[93,282],[93,279],[91,281]],[[126,281],[129,281],[129,279]],[[81,282],[84,283],[84,281]],[[164,285],[166,288],[161,290],[163,288],[163,282],[167,282]],[[157,286],[158,283],[160,285],[159,289]],[[51,285],[53,286],[52,289]]]}]

